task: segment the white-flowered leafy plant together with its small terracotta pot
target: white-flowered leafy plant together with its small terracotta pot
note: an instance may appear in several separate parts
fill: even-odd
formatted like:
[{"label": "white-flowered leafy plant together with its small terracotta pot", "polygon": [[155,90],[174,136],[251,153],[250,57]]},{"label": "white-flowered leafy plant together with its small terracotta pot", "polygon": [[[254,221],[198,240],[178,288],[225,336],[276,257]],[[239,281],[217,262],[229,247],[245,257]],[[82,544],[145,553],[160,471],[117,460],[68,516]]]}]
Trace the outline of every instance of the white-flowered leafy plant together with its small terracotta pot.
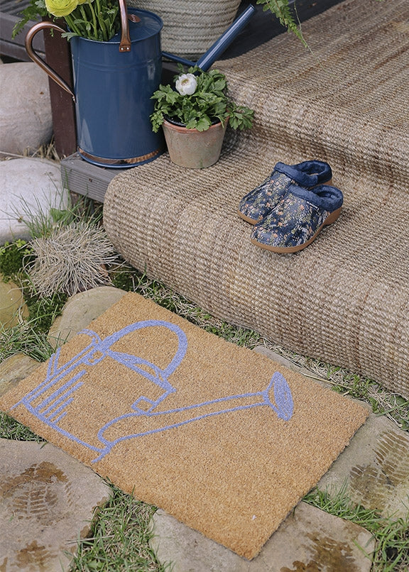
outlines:
[{"label": "white-flowered leafy plant together with its small terracotta pot", "polygon": [[253,124],[254,111],[231,99],[227,79],[219,70],[189,67],[175,76],[175,89],[160,84],[152,99],[152,129],[157,133],[163,128],[170,160],[181,167],[213,165],[219,159],[227,123],[233,129]]}]

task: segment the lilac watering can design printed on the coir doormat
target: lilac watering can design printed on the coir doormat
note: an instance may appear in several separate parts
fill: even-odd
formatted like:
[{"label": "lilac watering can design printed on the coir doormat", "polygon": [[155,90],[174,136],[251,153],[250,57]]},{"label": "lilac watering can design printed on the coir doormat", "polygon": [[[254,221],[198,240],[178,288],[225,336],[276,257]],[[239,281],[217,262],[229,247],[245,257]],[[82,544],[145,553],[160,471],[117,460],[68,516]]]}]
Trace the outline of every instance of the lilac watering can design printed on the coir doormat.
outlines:
[{"label": "lilac watering can design printed on the coir doormat", "polygon": [[[145,328],[165,328],[173,337],[176,334],[178,347],[173,359],[165,368],[160,368],[141,357],[111,349],[114,343],[127,334]],[[185,332],[179,326],[168,321],[145,320],[130,324],[111,334],[111,336],[107,336],[104,340],[96,332],[89,329],[80,333],[89,336],[91,339],[89,344],[70,361],[62,365],[59,363],[60,349],[58,349],[50,358],[45,380],[25,395],[16,405],[13,405],[13,408],[23,405],[28,412],[31,412],[48,427],[97,453],[97,458],[92,462],[102,459],[114,445],[121,441],[136,439],[161,431],[170,431],[192,422],[200,422],[201,419],[207,417],[231,414],[254,407],[268,407],[283,421],[289,421],[293,416],[294,405],[291,390],[283,375],[278,371],[273,374],[267,387],[263,387],[260,391],[219,397],[165,411],[157,410],[158,405],[166,397],[177,391],[170,383],[169,378],[185,357],[187,351]],[[77,427],[78,425],[77,419],[74,419],[74,422],[70,419],[70,406],[75,404],[75,394],[84,385],[82,378],[86,375],[87,370],[105,358],[112,358],[151,382],[153,395],[134,396],[136,399],[131,404],[124,404],[124,413],[114,417],[114,419],[109,419],[97,429],[97,441],[100,445],[96,446],[91,442],[84,441],[81,436],[75,435],[72,429],[68,431],[66,427],[67,424],[69,427]],[[87,407],[86,414],[89,416],[89,407]],[[139,429],[138,425],[140,426]],[[129,431],[126,434],[124,434],[125,427]],[[80,432],[81,430],[83,430],[82,427],[80,427]],[[110,439],[107,438],[107,433],[109,433]]]}]

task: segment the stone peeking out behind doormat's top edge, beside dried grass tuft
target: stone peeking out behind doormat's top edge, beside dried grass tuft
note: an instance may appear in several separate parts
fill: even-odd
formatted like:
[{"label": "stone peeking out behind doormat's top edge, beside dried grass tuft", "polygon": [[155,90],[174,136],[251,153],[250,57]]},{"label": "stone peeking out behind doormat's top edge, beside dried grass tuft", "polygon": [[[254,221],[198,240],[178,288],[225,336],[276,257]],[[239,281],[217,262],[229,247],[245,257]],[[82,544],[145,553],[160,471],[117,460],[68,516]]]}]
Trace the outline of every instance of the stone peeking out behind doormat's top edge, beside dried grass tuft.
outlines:
[{"label": "stone peeking out behind doormat's top edge, beside dried grass tuft", "polygon": [[48,332],[50,346],[58,347],[89,325],[126,294],[112,286],[99,286],[70,297]]}]

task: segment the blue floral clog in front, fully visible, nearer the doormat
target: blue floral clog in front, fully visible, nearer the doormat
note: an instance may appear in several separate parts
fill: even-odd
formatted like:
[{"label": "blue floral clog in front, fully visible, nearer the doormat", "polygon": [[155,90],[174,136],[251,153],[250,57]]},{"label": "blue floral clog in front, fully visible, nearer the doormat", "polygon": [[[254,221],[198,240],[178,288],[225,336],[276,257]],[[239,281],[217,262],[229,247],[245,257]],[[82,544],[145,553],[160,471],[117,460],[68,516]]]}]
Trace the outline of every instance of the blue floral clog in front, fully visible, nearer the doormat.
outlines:
[{"label": "blue floral clog in front, fully visible, nearer the doormat", "polygon": [[309,190],[290,185],[283,200],[254,226],[251,242],[278,253],[300,251],[323,226],[337,220],[343,201],[337,187],[319,185]]}]

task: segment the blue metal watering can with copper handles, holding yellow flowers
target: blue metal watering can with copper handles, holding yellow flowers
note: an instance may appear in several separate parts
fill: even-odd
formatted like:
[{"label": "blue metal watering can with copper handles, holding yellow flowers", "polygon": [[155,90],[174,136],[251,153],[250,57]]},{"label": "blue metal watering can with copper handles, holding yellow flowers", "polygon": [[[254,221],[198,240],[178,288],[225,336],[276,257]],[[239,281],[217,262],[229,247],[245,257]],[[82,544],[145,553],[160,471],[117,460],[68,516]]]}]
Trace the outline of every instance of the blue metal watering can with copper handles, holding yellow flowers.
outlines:
[{"label": "blue metal watering can with copper handles, holding yellow flowers", "polygon": [[[89,163],[110,168],[142,165],[163,153],[163,135],[153,133],[149,119],[154,106],[151,96],[162,75],[162,56],[195,65],[161,52],[159,16],[128,8],[126,0],[119,0],[119,6],[121,31],[114,38],[108,42],[71,38],[73,88],[33,48],[40,30],[65,30],[53,22],[39,22],[26,35],[29,57],[75,101],[78,153]],[[202,70],[208,70],[227,49],[255,11],[250,5],[198,60]]]}]

